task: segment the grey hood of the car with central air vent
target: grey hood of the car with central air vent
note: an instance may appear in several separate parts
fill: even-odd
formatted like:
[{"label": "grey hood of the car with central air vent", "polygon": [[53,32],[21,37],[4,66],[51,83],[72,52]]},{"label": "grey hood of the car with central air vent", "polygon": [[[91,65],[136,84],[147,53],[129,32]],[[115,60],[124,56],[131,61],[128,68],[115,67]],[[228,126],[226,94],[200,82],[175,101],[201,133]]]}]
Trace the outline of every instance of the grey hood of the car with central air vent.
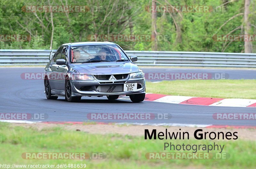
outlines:
[{"label": "grey hood of the car with central air vent", "polygon": [[96,74],[126,74],[140,71],[139,67],[128,62],[96,62],[96,63],[76,63],[70,65],[80,74],[96,75]]}]

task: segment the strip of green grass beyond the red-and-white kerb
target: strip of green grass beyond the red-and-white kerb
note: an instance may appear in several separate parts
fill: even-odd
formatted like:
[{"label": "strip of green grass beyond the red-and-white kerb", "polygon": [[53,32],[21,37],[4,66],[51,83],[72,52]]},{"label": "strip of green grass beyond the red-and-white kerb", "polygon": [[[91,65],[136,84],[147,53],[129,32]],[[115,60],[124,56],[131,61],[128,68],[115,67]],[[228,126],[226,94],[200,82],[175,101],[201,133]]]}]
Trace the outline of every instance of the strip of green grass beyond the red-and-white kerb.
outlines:
[{"label": "strip of green grass beyond the red-and-white kerb", "polygon": [[146,82],[148,93],[175,96],[256,99],[256,80],[174,80]]}]

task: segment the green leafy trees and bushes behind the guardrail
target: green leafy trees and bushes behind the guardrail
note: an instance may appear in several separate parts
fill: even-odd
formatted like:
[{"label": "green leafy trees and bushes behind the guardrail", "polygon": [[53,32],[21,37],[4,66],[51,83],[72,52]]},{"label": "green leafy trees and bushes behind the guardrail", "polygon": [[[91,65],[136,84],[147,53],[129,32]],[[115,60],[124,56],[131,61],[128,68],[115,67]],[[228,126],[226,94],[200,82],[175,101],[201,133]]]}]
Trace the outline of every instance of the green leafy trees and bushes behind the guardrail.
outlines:
[{"label": "green leafy trees and bushes behind the guardrail", "polygon": [[[228,0],[158,0],[157,5],[220,6]],[[151,12],[148,0],[1,0],[0,34],[28,34],[29,41],[0,41],[2,49],[56,49],[63,43],[90,41],[91,35],[151,35]],[[86,12],[25,12],[26,6],[86,5]],[[215,34],[244,34],[244,0],[222,5],[220,12],[157,12],[156,32],[167,39],[157,41],[157,50],[244,52],[244,41],[215,41]],[[250,5],[251,33],[256,34],[255,1]],[[94,10],[92,10],[94,9]],[[175,24],[176,23],[176,24]],[[240,26],[240,28],[239,28]],[[220,28],[220,29],[219,29]],[[110,40],[109,40],[110,41]],[[114,41],[125,50],[152,50],[152,41]],[[253,52],[256,52],[255,41]]]}]

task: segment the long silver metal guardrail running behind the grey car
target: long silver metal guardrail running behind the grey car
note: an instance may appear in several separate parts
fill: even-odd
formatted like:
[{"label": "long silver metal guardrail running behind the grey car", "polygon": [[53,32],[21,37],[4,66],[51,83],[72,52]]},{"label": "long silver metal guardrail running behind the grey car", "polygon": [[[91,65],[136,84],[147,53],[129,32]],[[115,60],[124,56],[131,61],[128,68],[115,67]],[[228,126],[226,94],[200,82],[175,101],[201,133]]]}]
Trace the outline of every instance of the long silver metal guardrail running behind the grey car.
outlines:
[{"label": "long silver metal guardrail running behind the grey car", "polygon": [[[125,51],[138,56],[139,66],[199,66],[256,68],[255,53]],[[0,49],[0,66],[46,65],[50,50]]]}]

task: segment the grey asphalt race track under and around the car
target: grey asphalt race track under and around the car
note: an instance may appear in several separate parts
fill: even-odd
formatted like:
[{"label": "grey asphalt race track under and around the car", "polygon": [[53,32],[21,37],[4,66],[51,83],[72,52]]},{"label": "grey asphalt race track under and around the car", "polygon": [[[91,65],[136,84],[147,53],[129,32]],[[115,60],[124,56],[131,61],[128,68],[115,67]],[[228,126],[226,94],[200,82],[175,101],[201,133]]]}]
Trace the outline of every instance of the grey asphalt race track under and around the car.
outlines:
[{"label": "grey asphalt race track under and around the car", "polygon": [[[47,100],[44,80],[21,79],[22,73],[42,73],[44,68],[0,68],[0,113],[45,113],[48,119],[40,121],[88,121],[88,113],[168,113],[170,120],[118,120],[113,122],[181,123],[212,125],[256,126],[255,120],[214,120],[214,113],[256,113],[250,107],[211,107],[130,100],[109,101],[106,97],[82,97],[80,103],[70,103],[59,97]],[[144,72],[218,72],[228,73],[231,79],[255,79],[256,70],[203,70],[203,69],[142,69]],[[32,120],[33,121],[33,120]],[[92,121],[92,120],[91,120]],[[102,122],[110,122],[102,120]]]}]

